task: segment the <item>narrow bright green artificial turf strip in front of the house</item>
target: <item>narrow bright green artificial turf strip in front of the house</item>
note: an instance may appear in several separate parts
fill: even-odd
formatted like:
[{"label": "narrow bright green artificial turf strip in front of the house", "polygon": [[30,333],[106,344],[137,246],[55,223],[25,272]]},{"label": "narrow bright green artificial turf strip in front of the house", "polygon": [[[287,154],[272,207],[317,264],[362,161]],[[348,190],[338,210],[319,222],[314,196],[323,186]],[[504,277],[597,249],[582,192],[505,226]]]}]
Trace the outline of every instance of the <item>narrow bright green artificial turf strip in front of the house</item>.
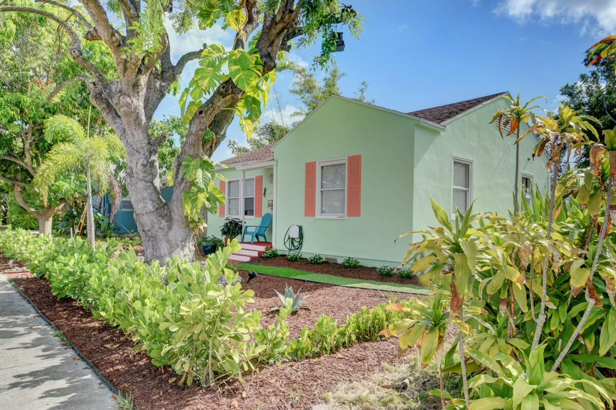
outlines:
[{"label": "narrow bright green artificial turf strip in front of the house", "polygon": [[254,265],[253,263],[236,263],[241,270],[252,270],[263,275],[278,276],[280,278],[298,279],[301,281],[325,283],[336,286],[358,287],[359,289],[373,289],[383,292],[412,293],[428,295],[431,292],[426,287],[413,284],[379,282],[369,279],[344,278],[344,276],[327,275],[325,273],[307,272],[291,268],[280,268],[268,265]]}]

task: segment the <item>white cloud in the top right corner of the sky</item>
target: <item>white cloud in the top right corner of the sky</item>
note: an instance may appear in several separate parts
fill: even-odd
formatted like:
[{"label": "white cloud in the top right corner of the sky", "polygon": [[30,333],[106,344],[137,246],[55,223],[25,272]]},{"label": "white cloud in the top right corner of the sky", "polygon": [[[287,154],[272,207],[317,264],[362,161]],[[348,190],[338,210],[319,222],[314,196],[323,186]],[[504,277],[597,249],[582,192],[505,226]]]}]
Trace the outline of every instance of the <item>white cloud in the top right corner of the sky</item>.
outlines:
[{"label": "white cloud in the top right corner of the sky", "polygon": [[582,32],[616,30],[616,0],[502,0],[495,11],[521,20],[575,23]]}]

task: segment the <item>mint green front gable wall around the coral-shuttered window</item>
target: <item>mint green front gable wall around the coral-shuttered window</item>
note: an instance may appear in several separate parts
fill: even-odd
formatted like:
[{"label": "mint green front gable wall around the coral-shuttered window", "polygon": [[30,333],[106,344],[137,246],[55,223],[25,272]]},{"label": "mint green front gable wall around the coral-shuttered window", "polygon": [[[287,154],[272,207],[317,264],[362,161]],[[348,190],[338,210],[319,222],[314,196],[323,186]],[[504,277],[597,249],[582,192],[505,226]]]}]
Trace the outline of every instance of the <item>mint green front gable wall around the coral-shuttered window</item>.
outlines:
[{"label": "mint green front gable wall around the coral-shuttered window", "polygon": [[[278,161],[277,248],[290,225],[302,225],[302,253],[397,263],[411,229],[413,126],[417,121],[342,98],[330,98],[274,148]],[[362,155],[362,213],[346,219],[304,216],[306,163]],[[317,181],[318,186],[318,181]]]}]

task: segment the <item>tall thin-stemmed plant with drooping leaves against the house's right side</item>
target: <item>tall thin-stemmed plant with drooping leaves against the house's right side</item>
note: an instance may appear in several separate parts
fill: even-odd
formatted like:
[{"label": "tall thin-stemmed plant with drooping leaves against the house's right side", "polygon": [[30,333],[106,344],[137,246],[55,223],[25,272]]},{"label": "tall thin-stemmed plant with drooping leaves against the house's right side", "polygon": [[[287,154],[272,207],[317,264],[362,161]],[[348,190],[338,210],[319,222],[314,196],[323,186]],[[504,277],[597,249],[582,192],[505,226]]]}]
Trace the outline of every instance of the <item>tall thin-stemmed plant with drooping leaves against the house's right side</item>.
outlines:
[{"label": "tall thin-stemmed plant with drooping leaves against the house's right side", "polygon": [[513,213],[517,215],[519,211],[519,204],[517,203],[517,192],[519,187],[519,178],[520,178],[520,140],[522,137],[527,135],[529,131],[526,131],[524,134],[520,135],[520,124],[525,123],[529,124],[535,118],[532,110],[537,108],[541,108],[538,105],[533,105],[530,107],[535,100],[539,98],[543,98],[547,100],[546,97],[535,97],[527,101],[524,105],[520,103],[520,94],[517,95],[514,100],[510,95],[503,95],[503,98],[509,101],[508,108],[500,108],[500,110],[496,110],[494,116],[492,117],[492,121],[490,124],[495,123],[498,125],[498,133],[503,137],[503,128],[509,127],[509,132],[507,136],[516,135],[516,177],[513,185]]}]

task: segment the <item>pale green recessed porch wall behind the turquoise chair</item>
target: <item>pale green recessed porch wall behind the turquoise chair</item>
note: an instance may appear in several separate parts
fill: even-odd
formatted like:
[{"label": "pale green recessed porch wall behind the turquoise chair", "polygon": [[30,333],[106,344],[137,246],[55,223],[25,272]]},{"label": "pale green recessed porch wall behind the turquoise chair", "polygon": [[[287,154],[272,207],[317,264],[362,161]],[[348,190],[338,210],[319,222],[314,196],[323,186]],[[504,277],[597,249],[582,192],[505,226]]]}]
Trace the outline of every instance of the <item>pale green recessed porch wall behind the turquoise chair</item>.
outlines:
[{"label": "pale green recessed porch wall behind the turquoise chair", "polygon": [[[274,172],[273,168],[263,168],[263,169],[253,169],[249,171],[245,171],[245,178],[254,178],[256,175],[262,175],[263,177],[263,188],[265,190],[265,196],[263,196],[263,191],[261,193],[255,193],[255,201],[262,201],[263,204],[263,214],[272,213],[272,210],[267,207],[267,201],[274,200],[274,183],[270,180],[270,174]],[[241,177],[241,171],[238,171],[235,168],[227,168],[221,169],[218,171],[219,174],[223,175],[227,179],[238,179]],[[220,181],[216,180],[216,185],[219,185]],[[245,217],[246,225],[259,225],[261,223],[260,217]],[[222,238],[221,235],[221,227],[224,223],[224,217],[217,214],[208,214],[208,236],[213,235],[217,238]],[[266,234],[267,240],[272,241],[272,227],[270,227]],[[238,238],[240,239],[240,238]]]}]

